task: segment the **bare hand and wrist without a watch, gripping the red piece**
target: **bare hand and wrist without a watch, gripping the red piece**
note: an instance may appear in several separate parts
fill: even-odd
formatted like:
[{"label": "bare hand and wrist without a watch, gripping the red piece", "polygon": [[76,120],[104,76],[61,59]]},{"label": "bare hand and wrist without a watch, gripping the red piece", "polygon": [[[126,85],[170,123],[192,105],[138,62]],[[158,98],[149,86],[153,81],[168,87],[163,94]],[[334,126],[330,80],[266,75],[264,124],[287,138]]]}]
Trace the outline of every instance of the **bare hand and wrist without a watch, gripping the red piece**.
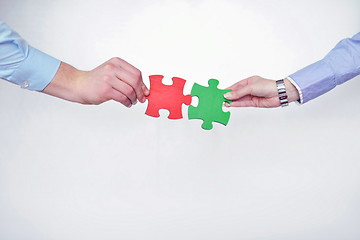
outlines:
[{"label": "bare hand and wrist without a watch, gripping the red piece", "polygon": [[61,63],[46,94],[81,104],[101,104],[115,100],[126,107],[145,102],[149,90],[141,72],[120,58],[112,58],[91,71],[80,71]]}]

